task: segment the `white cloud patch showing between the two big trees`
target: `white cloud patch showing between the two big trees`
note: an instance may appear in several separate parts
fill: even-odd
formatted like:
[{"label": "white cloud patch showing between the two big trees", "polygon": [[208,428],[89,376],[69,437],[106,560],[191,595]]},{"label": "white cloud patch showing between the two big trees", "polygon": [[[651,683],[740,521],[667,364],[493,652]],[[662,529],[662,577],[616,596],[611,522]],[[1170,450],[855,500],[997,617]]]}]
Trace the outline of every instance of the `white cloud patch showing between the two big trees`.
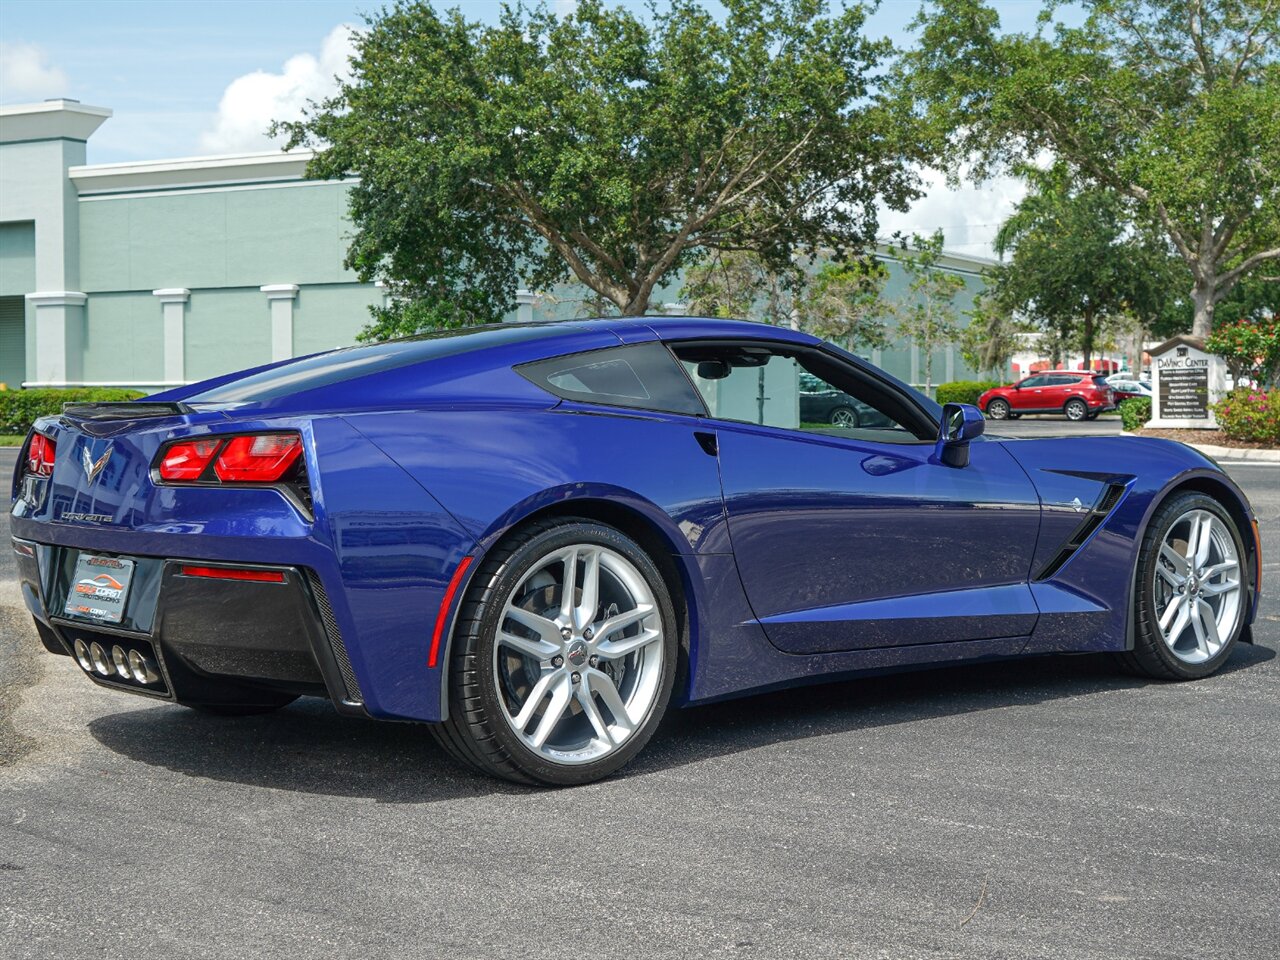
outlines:
[{"label": "white cloud patch showing between the two big trees", "polygon": [[922,179],[925,195],[909,211],[881,210],[882,237],[887,238],[896,230],[908,237],[911,233],[928,236],[941,229],[948,251],[993,257],[996,230],[1027,195],[1027,184],[1015,177],[995,177],[979,186],[965,183],[948,187],[941,173],[925,170]]}]

